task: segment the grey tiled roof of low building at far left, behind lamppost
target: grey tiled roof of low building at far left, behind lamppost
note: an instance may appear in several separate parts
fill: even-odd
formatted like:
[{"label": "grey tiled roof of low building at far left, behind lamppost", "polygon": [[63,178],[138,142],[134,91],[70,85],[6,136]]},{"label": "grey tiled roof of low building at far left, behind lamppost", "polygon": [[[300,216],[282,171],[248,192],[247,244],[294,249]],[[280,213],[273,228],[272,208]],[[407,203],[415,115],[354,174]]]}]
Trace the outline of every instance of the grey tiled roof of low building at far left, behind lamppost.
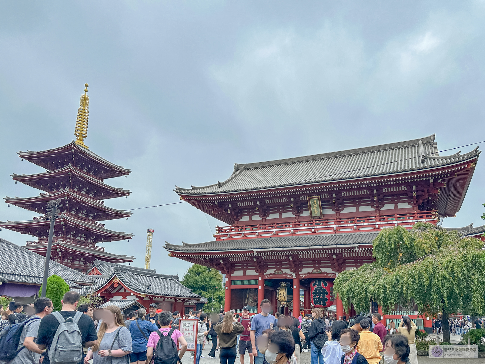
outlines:
[{"label": "grey tiled roof of low building at far left, behind lamppost", "polygon": [[[45,257],[2,238],[0,238],[0,251],[2,252],[0,281],[42,284]],[[68,284],[71,282],[77,286],[79,286],[78,283],[90,285],[93,281],[89,276],[51,260],[49,276],[53,274],[62,277]]]}]

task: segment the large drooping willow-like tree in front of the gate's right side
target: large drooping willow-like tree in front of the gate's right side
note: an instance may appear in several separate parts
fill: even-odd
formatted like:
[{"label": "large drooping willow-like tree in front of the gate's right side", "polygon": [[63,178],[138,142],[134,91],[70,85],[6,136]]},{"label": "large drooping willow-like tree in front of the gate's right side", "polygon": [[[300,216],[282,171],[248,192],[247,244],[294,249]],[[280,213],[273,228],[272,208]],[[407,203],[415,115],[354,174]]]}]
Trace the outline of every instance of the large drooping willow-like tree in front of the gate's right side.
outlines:
[{"label": "large drooping willow-like tree in front of the gate's right side", "polygon": [[384,312],[416,304],[421,313],[442,313],[443,341],[450,342],[450,313],[485,313],[483,242],[439,226],[417,223],[383,229],[372,244],[375,262],[339,274],[334,291],[344,305],[367,311],[372,300]]}]

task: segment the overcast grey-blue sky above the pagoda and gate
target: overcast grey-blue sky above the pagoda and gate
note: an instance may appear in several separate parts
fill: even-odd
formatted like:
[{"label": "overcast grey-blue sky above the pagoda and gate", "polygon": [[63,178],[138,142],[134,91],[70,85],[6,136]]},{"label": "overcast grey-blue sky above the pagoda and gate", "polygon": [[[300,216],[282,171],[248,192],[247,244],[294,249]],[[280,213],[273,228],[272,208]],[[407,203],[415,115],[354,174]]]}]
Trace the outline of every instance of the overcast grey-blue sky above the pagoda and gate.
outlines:
[{"label": "overcast grey-blue sky above the pagoda and gate", "polygon": [[[484,1],[2,1],[0,196],[39,193],[12,181],[44,171],[16,151],[69,143],[84,83],[85,144],[132,170],[105,181],[133,191],[106,201],[118,209],[178,202],[176,184],[223,181],[235,162],[485,140],[484,28]],[[484,164],[443,226],[483,225]],[[155,229],[151,267],[180,278],[189,263],[165,240],[210,241],[224,225],[186,203],[134,212],[106,222],[130,242],[100,245],[144,266]],[[32,215],[0,203],[1,221]]]}]

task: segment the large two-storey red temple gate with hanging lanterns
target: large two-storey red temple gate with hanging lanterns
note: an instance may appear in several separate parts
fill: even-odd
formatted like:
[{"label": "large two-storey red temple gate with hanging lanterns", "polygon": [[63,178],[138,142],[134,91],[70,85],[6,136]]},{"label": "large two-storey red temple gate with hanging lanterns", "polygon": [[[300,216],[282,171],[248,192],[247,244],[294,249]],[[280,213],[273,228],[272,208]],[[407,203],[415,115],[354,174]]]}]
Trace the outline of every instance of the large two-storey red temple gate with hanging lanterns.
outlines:
[{"label": "large two-storey red temple gate with hanging lanterns", "polygon": [[[411,229],[419,221],[436,225],[442,217],[455,216],[479,154],[477,148],[440,156],[431,135],[235,164],[224,182],[175,190],[180,199],[226,224],[216,227],[215,240],[166,243],[165,248],[169,256],[226,275],[226,311],[241,312],[249,305],[256,313],[258,302],[268,298],[273,312],[298,317],[312,307],[335,304],[337,316],[343,316],[342,302],[333,293],[337,275],[373,261],[372,241],[382,229]],[[485,231],[459,230],[476,237]],[[370,309],[377,308],[370,304]],[[420,329],[431,327],[417,312],[395,310],[383,317],[385,325],[405,313]],[[347,314],[355,313],[351,308]]]}]

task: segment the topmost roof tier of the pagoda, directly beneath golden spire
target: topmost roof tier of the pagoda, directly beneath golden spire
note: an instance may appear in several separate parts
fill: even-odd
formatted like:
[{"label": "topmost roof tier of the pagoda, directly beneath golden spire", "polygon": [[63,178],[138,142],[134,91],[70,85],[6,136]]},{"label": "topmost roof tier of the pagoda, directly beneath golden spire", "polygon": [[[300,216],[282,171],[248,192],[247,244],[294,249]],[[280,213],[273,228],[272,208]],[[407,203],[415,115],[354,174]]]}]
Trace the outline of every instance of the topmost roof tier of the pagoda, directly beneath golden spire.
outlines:
[{"label": "topmost roof tier of the pagoda, directly beneath golden spire", "polygon": [[86,169],[89,173],[102,179],[124,176],[131,172],[120,165],[108,162],[91,150],[75,144],[74,141],[58,148],[41,151],[19,151],[17,154],[19,157],[48,170],[60,169],[70,163]]}]

